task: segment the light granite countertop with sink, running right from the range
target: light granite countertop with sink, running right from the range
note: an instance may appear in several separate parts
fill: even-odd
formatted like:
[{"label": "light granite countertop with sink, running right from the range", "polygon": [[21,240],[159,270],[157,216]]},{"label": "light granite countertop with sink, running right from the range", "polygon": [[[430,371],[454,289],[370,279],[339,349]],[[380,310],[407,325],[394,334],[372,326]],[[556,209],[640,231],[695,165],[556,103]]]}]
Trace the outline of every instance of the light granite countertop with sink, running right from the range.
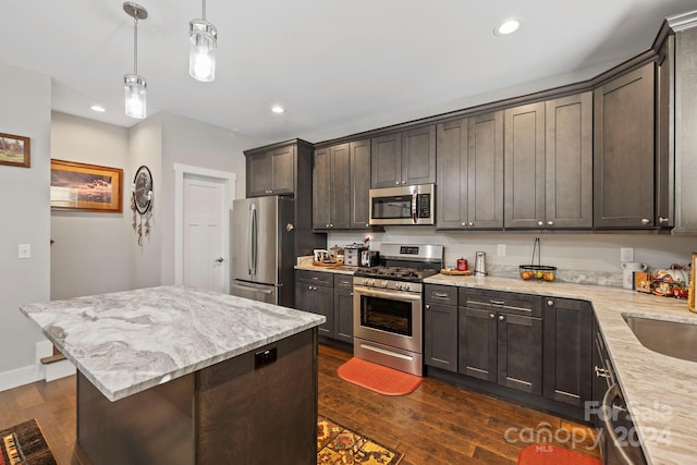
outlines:
[{"label": "light granite countertop with sink, running right from the range", "polygon": [[688,310],[685,299],[617,287],[492,277],[436,274],[425,282],[590,302],[647,461],[697,462],[697,363],[646,348],[622,317],[633,314],[697,325],[697,314]]}]

